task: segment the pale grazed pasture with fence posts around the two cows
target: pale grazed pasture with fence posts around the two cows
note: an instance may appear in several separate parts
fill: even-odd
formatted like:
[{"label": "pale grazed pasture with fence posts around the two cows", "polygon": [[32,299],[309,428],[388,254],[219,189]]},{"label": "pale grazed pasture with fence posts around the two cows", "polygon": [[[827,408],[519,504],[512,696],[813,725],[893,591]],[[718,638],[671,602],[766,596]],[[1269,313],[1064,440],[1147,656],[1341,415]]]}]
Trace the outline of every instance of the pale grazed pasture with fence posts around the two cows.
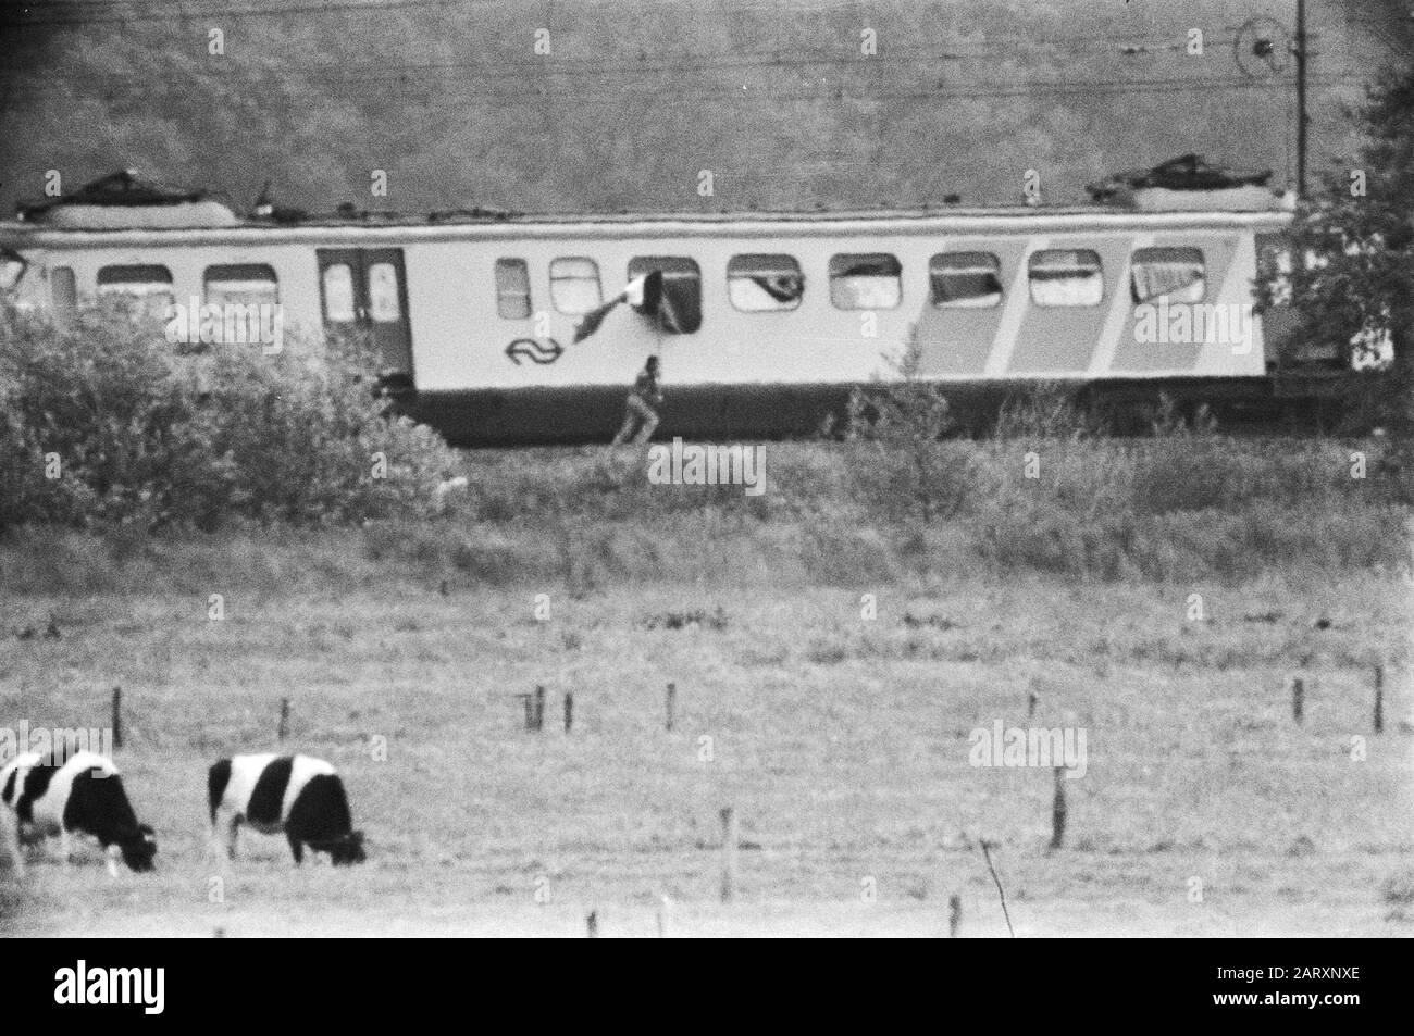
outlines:
[{"label": "pale grazed pasture with fence posts around the two cows", "polygon": [[[933,936],[956,893],[962,936],[1004,937],[987,838],[1018,936],[1414,934],[1398,577],[624,581],[573,599],[553,582],[443,595],[392,565],[386,585],[320,592],[296,571],[307,557],[283,557],[288,578],[276,564],[246,588],[0,602],[0,715],[102,725],[122,685],[116,758],[161,847],[154,875],[110,879],[96,855],[65,869],[51,851],[23,883],[0,879],[10,933],[577,936],[595,910],[604,936],[653,936],[667,896],[670,936]],[[225,594],[223,620],[208,592]],[[697,609],[721,622],[660,622]],[[62,640],[14,639],[49,612]],[[546,729],[530,734],[513,695],[536,684]],[[243,835],[235,864],[208,844],[206,766],[274,748],[286,695],[287,746],[345,775],[361,868],[296,871],[281,838]],[[969,732],[995,719],[1087,732],[1065,848],[1046,848],[1049,772],[969,765]],[[727,804],[741,821],[731,905]]]}]

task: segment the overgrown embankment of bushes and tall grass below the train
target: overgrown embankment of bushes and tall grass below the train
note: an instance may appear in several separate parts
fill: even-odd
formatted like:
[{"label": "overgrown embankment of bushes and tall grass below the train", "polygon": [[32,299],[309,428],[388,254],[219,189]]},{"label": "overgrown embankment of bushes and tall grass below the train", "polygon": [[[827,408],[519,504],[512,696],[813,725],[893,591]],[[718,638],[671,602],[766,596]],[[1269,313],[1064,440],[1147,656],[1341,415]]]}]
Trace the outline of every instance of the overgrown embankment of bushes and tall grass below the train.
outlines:
[{"label": "overgrown embankment of bushes and tall grass below the train", "polygon": [[843,437],[740,444],[744,485],[734,444],[452,451],[390,418],[356,358],[314,365],[297,343],[174,358],[102,315],[7,314],[3,331],[0,587],[17,592],[211,572],[588,595],[1410,564],[1414,465],[1394,437],[1229,437],[1158,414],[1151,435],[1110,438],[1038,392],[988,438],[940,438],[946,393],[905,386]]}]

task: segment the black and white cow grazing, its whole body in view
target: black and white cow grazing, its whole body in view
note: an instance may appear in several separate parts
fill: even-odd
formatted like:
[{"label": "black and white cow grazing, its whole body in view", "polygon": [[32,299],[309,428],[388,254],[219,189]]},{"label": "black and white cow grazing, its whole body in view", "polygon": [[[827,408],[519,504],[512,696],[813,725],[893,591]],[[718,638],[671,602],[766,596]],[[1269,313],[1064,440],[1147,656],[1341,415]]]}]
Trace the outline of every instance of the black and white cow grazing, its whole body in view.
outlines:
[{"label": "black and white cow grazing, its whole body in view", "polygon": [[211,832],[229,813],[226,852],[236,858],[236,832],[249,824],[262,834],[284,832],[294,862],[304,847],[328,852],[335,865],[363,862],[363,832],[354,831],[349,800],[338,772],[305,755],[238,755],[212,765],[206,775]]}]

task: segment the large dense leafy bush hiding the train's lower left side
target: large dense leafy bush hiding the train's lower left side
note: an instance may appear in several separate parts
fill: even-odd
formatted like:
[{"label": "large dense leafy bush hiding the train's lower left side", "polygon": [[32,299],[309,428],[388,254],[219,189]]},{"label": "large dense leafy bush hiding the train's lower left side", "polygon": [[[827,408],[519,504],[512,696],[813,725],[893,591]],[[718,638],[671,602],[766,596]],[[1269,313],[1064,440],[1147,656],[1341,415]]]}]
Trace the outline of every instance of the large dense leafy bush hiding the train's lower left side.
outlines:
[{"label": "large dense leafy bush hiding the train's lower left side", "polygon": [[392,417],[356,346],[177,355],[113,307],[66,326],[0,311],[0,530],[212,530],[424,512],[455,455]]}]

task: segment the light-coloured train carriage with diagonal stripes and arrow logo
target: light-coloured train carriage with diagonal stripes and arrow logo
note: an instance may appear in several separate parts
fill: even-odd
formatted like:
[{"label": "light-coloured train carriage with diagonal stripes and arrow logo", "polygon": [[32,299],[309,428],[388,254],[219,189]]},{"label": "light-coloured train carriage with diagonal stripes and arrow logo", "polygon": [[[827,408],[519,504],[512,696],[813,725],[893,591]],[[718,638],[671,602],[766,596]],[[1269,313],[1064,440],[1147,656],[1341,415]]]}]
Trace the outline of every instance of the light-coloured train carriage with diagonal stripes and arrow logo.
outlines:
[{"label": "light-coloured train carriage with diagonal stripes and arrow logo", "polygon": [[[151,226],[148,208],[127,206],[129,226],[113,212],[102,228],[0,225],[20,302],[61,319],[110,293],[269,302],[286,335],[361,329],[416,413],[460,444],[607,440],[649,355],[660,437],[810,434],[853,386],[896,376],[911,341],[919,375],[964,414],[1036,380],[1261,408],[1274,355],[1250,319],[1257,247],[1291,218],[1076,206]],[[655,311],[619,305],[575,342],[585,314],[652,270]]]}]

